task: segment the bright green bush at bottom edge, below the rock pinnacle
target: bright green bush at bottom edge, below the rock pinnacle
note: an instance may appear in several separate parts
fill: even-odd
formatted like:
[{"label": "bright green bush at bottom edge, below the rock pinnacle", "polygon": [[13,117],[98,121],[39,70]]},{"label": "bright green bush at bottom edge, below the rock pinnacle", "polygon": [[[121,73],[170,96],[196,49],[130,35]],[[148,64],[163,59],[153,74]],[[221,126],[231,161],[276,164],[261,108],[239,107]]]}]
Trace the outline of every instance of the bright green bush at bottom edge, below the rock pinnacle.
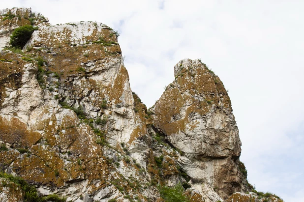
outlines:
[{"label": "bright green bush at bottom edge, below the rock pinnacle", "polygon": [[190,202],[189,198],[183,195],[183,187],[179,183],[174,187],[157,186],[160,196],[165,202]]}]

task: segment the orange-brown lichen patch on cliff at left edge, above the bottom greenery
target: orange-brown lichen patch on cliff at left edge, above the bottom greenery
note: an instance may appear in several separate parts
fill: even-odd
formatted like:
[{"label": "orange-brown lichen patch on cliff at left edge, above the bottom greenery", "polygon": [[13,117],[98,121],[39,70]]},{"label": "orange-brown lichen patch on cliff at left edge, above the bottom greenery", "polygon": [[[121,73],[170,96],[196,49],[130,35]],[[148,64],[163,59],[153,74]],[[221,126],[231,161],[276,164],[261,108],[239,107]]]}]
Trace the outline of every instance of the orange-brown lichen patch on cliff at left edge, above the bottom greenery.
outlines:
[{"label": "orange-brown lichen patch on cliff at left edge, above the bottom greenery", "polygon": [[27,124],[19,118],[10,120],[0,117],[0,139],[14,147],[30,147],[41,138],[38,132],[28,130]]}]

